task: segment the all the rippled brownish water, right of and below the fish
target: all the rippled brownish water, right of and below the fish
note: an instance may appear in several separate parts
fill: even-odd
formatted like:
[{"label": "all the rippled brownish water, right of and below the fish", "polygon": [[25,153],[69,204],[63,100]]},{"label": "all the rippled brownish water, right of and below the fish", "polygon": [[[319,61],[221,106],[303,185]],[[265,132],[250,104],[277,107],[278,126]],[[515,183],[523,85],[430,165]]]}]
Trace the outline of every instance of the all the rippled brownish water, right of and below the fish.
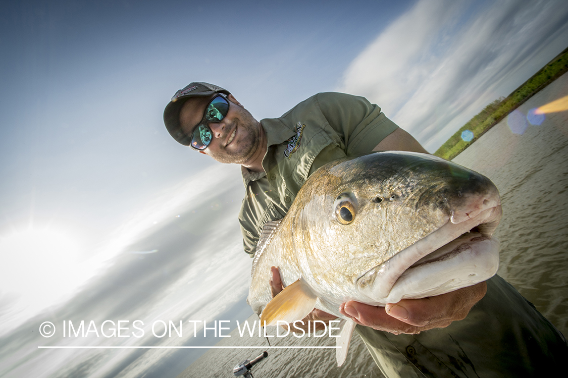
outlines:
[{"label": "all the rippled brownish water, right of and below the fish", "polygon": [[[454,159],[485,174],[502,195],[503,219],[496,232],[501,241],[498,274],[565,335],[568,335],[568,111],[547,114],[540,125],[533,125],[523,117],[532,108],[567,94],[568,75],[563,75]],[[249,320],[255,318],[253,315]],[[268,346],[264,338],[240,338],[233,334],[219,345]],[[277,346],[334,345],[334,340],[328,337],[272,338],[271,342]],[[264,350],[212,349],[178,378],[231,377],[237,363]],[[266,350],[268,359],[253,368],[256,378],[382,376],[357,336],[340,368],[336,367],[333,349]]]}]

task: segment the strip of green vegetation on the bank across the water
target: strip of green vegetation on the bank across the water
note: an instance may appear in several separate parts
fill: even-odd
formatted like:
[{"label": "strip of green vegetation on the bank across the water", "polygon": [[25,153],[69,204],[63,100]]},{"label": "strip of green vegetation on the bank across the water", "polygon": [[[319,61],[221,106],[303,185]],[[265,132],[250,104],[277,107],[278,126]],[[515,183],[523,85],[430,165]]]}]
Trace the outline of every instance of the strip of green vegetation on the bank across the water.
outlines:
[{"label": "strip of green vegetation on the bank across the water", "polygon": [[[541,68],[523,85],[517,88],[507,98],[499,98],[488,104],[478,115],[463,125],[434,153],[436,156],[451,160],[460,154],[470,144],[481,137],[488,129],[494,127],[510,112],[531,98],[538,91],[549,85],[556,78],[568,70],[568,48],[558,54],[552,61]],[[462,139],[462,132],[473,132],[473,139],[466,142]]]}]

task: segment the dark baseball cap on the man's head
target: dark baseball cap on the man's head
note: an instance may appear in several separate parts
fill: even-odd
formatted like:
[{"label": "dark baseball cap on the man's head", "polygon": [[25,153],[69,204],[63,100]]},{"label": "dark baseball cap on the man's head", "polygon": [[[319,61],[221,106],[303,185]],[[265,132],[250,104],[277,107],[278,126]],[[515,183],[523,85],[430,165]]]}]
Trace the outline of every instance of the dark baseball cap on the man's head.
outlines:
[{"label": "dark baseball cap on the man's head", "polygon": [[[187,99],[191,97],[210,96],[214,93],[230,94],[228,90],[204,82],[189,83],[183,89],[180,89],[174,94],[170,103],[166,105],[164,110],[164,124],[170,135],[179,143],[189,146],[185,133],[179,125],[179,111]],[[182,142],[183,140],[183,142]]]}]

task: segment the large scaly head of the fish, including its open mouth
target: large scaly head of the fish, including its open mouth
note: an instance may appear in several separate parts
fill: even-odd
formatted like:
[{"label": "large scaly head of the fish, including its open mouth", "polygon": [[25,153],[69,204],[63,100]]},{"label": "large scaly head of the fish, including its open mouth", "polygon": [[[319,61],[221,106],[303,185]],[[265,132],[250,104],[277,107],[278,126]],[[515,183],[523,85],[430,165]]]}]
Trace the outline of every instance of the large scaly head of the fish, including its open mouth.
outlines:
[{"label": "large scaly head of the fish, including its open mouth", "polygon": [[[350,287],[341,300],[396,303],[495,274],[494,242],[490,266],[465,267],[463,260],[485,258],[475,249],[485,253],[487,245],[472,248],[478,243],[471,239],[491,239],[501,215],[499,193],[483,175],[444,159],[381,152],[335,161],[310,177],[296,203],[306,276],[330,293]],[[450,277],[456,274],[470,283],[456,282]]]}]

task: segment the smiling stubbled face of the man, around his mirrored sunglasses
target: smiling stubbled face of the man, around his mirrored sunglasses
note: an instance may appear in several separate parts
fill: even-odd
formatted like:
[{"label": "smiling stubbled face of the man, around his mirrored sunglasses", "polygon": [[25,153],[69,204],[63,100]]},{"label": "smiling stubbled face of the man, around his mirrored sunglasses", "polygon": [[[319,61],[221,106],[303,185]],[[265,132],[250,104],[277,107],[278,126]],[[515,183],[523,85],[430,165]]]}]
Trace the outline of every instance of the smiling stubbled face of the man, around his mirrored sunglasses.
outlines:
[{"label": "smiling stubbled face of the man, around his mirrored sunglasses", "polygon": [[[190,98],[179,112],[179,124],[183,132],[191,135],[193,129],[203,119],[205,107],[216,94],[208,97]],[[213,138],[201,153],[221,163],[244,164],[260,144],[260,123],[241,104],[229,94],[229,111],[219,123],[208,123]]]}]

